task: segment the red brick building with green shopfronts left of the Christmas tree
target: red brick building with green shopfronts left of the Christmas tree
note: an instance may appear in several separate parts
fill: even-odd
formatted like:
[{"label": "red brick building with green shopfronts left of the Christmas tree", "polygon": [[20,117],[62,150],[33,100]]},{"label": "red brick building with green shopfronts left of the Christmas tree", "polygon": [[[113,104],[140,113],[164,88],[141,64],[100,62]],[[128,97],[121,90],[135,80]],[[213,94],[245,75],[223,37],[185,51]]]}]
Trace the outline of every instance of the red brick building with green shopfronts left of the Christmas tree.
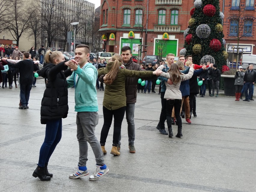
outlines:
[{"label": "red brick building with green shopfronts left of the Christmas tree", "polygon": [[[136,44],[146,44],[147,55],[162,53],[165,57],[167,53],[174,53],[178,56],[193,7],[194,1],[184,0],[150,0],[148,6],[146,0],[101,0],[99,30],[108,38],[106,51],[120,53],[123,46],[129,45],[136,56]],[[128,37],[130,31],[134,32],[134,38]],[[165,32],[169,35],[167,41],[162,40]],[[110,40],[111,33],[115,40]]]}]

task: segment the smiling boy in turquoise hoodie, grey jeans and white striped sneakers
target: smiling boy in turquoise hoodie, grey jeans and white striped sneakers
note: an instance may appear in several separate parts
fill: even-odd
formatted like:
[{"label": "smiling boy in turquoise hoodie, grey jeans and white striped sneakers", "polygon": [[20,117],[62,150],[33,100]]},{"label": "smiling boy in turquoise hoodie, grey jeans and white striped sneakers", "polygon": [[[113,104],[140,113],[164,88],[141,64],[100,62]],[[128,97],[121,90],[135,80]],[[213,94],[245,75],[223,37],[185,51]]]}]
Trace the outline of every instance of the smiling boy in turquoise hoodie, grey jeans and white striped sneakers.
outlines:
[{"label": "smiling boy in turquoise hoodie, grey jeans and white striped sneakers", "polygon": [[103,152],[94,133],[95,126],[99,122],[95,87],[98,72],[92,63],[87,62],[89,56],[89,47],[80,44],[75,49],[75,60],[72,59],[67,62],[67,66],[74,70],[67,82],[68,88],[75,87],[75,111],[77,111],[76,124],[79,143],[78,167],[74,174],[69,175],[69,178],[76,179],[89,174],[86,167],[89,143],[96,159],[96,172],[89,177],[89,180],[95,181],[108,173],[109,169],[104,164]]}]

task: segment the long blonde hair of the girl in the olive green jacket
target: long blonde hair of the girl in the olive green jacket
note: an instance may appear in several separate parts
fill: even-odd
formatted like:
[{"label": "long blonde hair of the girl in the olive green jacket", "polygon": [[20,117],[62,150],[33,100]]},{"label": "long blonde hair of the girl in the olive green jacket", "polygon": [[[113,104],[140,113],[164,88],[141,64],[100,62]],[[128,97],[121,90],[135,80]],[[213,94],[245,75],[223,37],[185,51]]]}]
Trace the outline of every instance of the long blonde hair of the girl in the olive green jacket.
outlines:
[{"label": "long blonde hair of the girl in the olive green jacket", "polygon": [[122,57],[119,54],[114,54],[112,56],[112,61],[110,63],[112,64],[112,68],[108,72],[108,75],[106,79],[104,80],[105,84],[112,84],[113,81],[117,78],[117,74],[119,72],[120,64],[122,64]]}]

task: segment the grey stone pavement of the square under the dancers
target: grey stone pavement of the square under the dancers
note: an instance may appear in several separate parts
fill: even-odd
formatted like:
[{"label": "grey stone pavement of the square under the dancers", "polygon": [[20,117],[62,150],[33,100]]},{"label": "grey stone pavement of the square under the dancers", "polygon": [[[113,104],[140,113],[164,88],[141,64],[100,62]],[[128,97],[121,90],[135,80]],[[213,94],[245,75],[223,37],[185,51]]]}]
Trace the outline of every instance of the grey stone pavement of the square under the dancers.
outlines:
[{"label": "grey stone pavement of the square under the dancers", "polygon": [[[50,181],[32,173],[44,140],[40,124],[43,80],[32,87],[29,109],[18,109],[19,88],[0,90],[0,191],[256,191],[256,101],[236,102],[234,97],[197,97],[197,118],[182,119],[183,137],[169,138],[156,130],[160,95],[138,93],[135,109],[136,153],[129,153],[127,123],[122,124],[121,155],[110,154],[113,125],[104,156],[110,171],[98,181],[88,176],[69,179],[78,163],[74,89],[69,89],[69,114],[62,120],[62,139],[48,165]],[[158,87],[156,87],[158,90]],[[100,138],[102,100],[98,90]],[[113,123],[112,123],[113,124]],[[166,125],[167,127],[167,125]],[[173,125],[174,134],[177,126]],[[89,147],[87,168],[95,170]]]}]

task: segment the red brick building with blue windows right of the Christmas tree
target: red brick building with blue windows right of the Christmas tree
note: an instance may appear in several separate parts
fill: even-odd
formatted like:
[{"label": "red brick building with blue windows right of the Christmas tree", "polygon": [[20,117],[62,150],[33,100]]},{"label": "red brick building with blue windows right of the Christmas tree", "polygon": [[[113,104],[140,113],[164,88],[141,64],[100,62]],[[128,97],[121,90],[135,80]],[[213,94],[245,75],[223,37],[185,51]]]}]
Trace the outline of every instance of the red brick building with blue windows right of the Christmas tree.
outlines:
[{"label": "red brick building with blue windows right of the Christmas tree", "polygon": [[[243,48],[243,54],[256,54],[256,2],[255,0],[225,0],[224,3],[223,33],[226,40],[226,48],[229,53],[229,61],[236,63],[237,40],[239,47]],[[239,61],[242,49],[239,51]]]}]

